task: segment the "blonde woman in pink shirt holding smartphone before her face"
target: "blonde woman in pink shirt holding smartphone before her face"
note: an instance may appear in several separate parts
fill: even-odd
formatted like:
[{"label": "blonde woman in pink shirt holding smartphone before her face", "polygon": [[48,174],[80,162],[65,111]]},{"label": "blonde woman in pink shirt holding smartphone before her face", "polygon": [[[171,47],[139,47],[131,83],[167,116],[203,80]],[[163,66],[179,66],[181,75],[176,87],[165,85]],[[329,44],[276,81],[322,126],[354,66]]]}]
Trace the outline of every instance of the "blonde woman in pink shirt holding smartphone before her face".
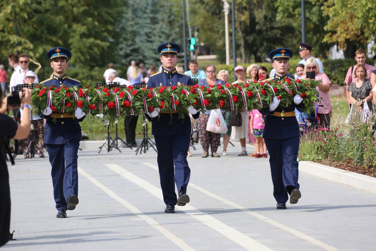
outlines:
[{"label": "blonde woman in pink shirt holding smartphone before her face", "polygon": [[[329,127],[330,117],[332,115],[332,104],[330,101],[329,90],[332,87],[332,83],[328,76],[325,73],[320,72],[318,63],[314,58],[309,58],[304,67],[304,74],[300,77],[300,79],[321,80],[321,83],[318,85],[318,87],[316,87],[316,89],[320,98],[322,98],[320,104],[323,105],[323,107],[318,107],[317,116],[320,118],[320,124],[322,126]],[[315,104],[315,107],[317,105],[318,103]]]}]

